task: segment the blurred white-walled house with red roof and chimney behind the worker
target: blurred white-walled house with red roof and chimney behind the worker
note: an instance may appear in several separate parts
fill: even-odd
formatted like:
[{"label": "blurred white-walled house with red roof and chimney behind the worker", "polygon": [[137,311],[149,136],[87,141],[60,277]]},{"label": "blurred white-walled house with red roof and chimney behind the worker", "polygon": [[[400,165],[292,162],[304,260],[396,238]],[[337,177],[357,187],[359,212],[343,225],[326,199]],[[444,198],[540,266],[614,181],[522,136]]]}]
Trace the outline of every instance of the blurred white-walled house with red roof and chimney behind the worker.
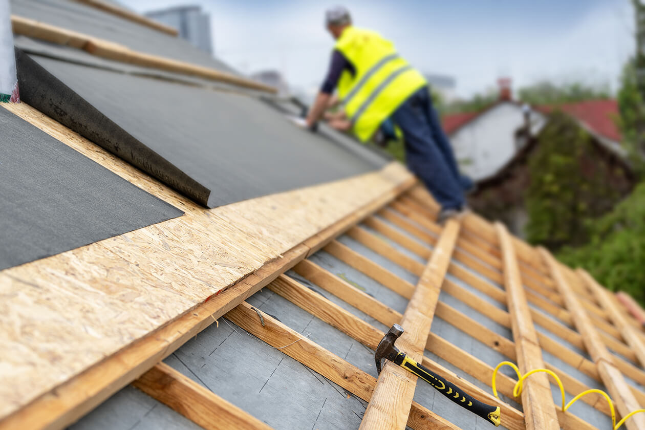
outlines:
[{"label": "blurred white-walled house with red roof and chimney behind the worker", "polygon": [[[477,183],[477,191],[468,197],[473,210],[502,220],[515,235],[524,237],[530,160],[553,112],[564,113],[573,119],[576,130],[589,135],[590,157],[599,164],[596,168],[605,172],[603,177],[617,195],[631,191],[635,176],[620,145],[622,138],[614,121],[619,114],[615,100],[529,106],[513,99],[510,79],[500,79],[498,84],[497,101],[477,112],[446,115],[442,120],[462,171]],[[581,163],[584,166],[584,160]]]}]

